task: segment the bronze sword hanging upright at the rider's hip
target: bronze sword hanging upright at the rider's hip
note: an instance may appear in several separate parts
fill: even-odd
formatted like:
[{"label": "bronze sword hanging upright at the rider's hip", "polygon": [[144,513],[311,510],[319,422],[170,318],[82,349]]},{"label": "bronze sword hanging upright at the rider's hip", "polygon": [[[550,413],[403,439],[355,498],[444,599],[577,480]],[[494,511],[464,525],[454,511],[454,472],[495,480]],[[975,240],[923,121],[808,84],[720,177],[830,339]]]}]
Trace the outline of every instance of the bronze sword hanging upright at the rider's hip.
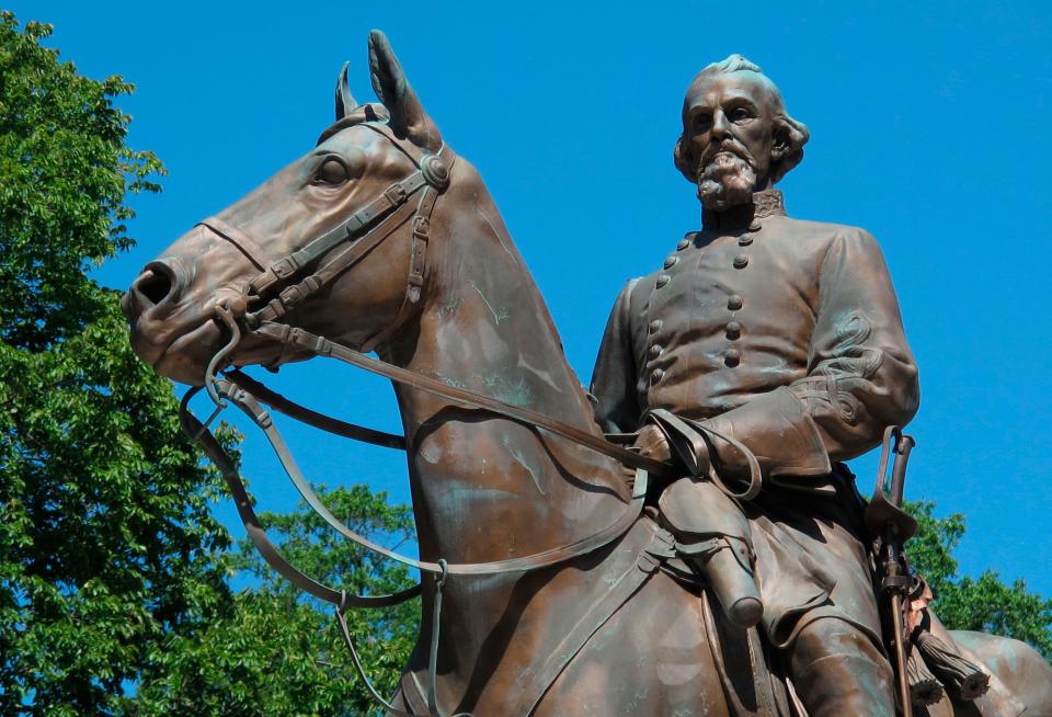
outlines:
[{"label": "bronze sword hanging upright at the rider's hip", "polygon": [[[903,717],[913,717],[910,695],[910,676],[906,673],[908,640],[904,605],[910,604],[910,567],[902,553],[903,544],[917,532],[917,521],[902,510],[902,494],[906,480],[906,463],[916,442],[904,435],[897,425],[884,430],[877,469],[877,487],[866,507],[866,526],[879,540],[878,556],[883,577],[880,582],[881,600],[888,605],[893,631],[893,653],[899,703]],[[894,454],[891,477],[888,476],[888,459]]]}]

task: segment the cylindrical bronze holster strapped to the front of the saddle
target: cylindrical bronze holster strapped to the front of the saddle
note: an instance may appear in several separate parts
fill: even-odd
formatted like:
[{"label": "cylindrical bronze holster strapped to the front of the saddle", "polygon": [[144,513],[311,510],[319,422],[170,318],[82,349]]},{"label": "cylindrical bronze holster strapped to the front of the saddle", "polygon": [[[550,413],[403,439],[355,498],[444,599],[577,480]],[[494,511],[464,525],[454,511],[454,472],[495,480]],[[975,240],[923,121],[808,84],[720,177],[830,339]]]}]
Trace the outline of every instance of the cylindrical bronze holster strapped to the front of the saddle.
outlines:
[{"label": "cylindrical bronze holster strapped to the front of the saddle", "polygon": [[707,480],[682,478],[658,501],[676,536],[676,553],[705,577],[735,625],[753,627],[764,615],[753,577],[748,522],[741,508]]}]

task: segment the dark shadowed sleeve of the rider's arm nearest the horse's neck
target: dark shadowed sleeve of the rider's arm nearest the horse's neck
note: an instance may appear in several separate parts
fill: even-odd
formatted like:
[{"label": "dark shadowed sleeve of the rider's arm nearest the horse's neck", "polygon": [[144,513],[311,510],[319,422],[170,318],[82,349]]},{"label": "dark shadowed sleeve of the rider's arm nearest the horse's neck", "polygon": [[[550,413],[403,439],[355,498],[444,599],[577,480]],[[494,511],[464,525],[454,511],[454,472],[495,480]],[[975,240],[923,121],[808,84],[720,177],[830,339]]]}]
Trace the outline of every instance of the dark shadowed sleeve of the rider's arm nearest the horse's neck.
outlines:
[{"label": "dark shadowed sleeve of the rider's arm nearest the horse's neck", "polygon": [[636,391],[638,372],[632,350],[632,280],[617,297],[603,333],[592,372],[592,395],[596,397],[595,421],[606,433],[630,433],[638,428],[640,408]]}]

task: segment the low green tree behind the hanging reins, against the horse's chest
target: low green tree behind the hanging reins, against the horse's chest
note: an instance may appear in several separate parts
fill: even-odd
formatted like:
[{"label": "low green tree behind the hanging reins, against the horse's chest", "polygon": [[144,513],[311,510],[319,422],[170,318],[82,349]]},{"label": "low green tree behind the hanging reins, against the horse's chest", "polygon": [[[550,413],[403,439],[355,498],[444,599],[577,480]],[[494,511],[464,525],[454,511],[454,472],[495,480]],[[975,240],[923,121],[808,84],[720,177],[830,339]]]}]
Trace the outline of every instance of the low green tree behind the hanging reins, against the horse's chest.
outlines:
[{"label": "low green tree behind the hanging reins, against the horse's chest", "polygon": [[[404,507],[365,487],[321,491],[330,510],[352,530],[412,539]],[[291,515],[263,516],[283,553],[307,574],[348,593],[384,594],[409,584],[407,571],[333,533],[306,504]],[[238,594],[235,610],[201,635],[173,638],[144,680],[138,715],[237,714],[366,715],[376,712],[355,678],[331,606],[306,599],[271,570],[251,544],[238,567],[254,587]],[[419,600],[377,611],[351,611],[351,634],[380,694],[397,686],[416,634]]]}]

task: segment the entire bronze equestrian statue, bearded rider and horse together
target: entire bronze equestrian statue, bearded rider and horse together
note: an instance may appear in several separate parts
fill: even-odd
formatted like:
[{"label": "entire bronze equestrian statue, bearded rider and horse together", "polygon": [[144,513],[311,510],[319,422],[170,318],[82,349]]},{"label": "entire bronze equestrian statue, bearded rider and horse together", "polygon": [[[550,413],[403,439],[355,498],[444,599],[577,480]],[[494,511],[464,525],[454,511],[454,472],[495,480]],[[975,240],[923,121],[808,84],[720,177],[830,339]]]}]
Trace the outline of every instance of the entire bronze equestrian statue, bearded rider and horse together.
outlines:
[{"label": "entire bronze equestrian statue, bearded rider and horse together", "polygon": [[[807,714],[790,674],[812,714],[830,714],[827,705],[843,704],[836,699],[864,705],[859,714],[890,714],[854,493],[833,462],[872,445],[874,425],[908,417],[915,371],[868,235],[790,220],[769,191],[799,161],[805,136],[778,114],[773,86],[752,70],[708,72],[688,95],[677,161],[688,175],[701,170],[702,196],[711,195],[706,227],[650,286],[643,280],[622,295],[594,386],[604,428],[634,431],[654,417],[661,428],[638,439],[643,456],[604,440],[481,178],[444,143],[379,32],[369,37],[369,65],[379,103],[356,102],[344,70],[336,123],[317,147],[147,264],[123,308],[138,355],[204,386],[220,408],[248,410],[305,496],[313,493],[259,401],[404,446],[427,579],[420,639],[388,714]],[[787,138],[776,126],[799,134]],[[727,291],[732,282],[736,293]],[[720,306],[717,292],[725,292]],[[695,296],[707,300],[691,304]],[[793,303],[779,304],[786,297]],[[695,329],[683,310],[694,311]],[[316,355],[391,378],[404,439],[296,410],[238,369]],[[222,467],[264,557],[332,601],[341,623],[348,605],[369,604],[284,561],[187,400],[184,425]],[[675,456],[664,455],[659,436],[670,437]],[[665,457],[690,474],[666,488],[683,493],[685,524],[667,498],[648,496],[648,469],[654,479],[667,474],[658,459]],[[622,464],[637,468],[634,482]],[[727,511],[696,513],[693,491],[708,480],[729,492],[747,483],[755,494],[721,492]],[[359,539],[324,505],[316,509]],[[723,523],[737,527],[713,532]],[[711,557],[737,566],[719,600],[695,574],[712,565],[691,550],[709,534]],[[823,536],[841,562],[812,545]],[[807,543],[777,555],[781,537]],[[788,571],[784,590],[768,581],[778,570]],[[752,603],[735,611],[729,595],[750,585]],[[814,587],[808,600],[805,585]],[[858,604],[844,602],[850,596]],[[758,616],[761,625],[745,626]],[[1003,714],[996,709],[1009,702],[1052,714],[1052,670],[1031,648],[956,636],[967,637],[999,692],[946,697],[930,714]],[[832,684],[839,668],[821,667],[839,656],[870,681]],[[824,703],[822,684],[832,695]]]}]

